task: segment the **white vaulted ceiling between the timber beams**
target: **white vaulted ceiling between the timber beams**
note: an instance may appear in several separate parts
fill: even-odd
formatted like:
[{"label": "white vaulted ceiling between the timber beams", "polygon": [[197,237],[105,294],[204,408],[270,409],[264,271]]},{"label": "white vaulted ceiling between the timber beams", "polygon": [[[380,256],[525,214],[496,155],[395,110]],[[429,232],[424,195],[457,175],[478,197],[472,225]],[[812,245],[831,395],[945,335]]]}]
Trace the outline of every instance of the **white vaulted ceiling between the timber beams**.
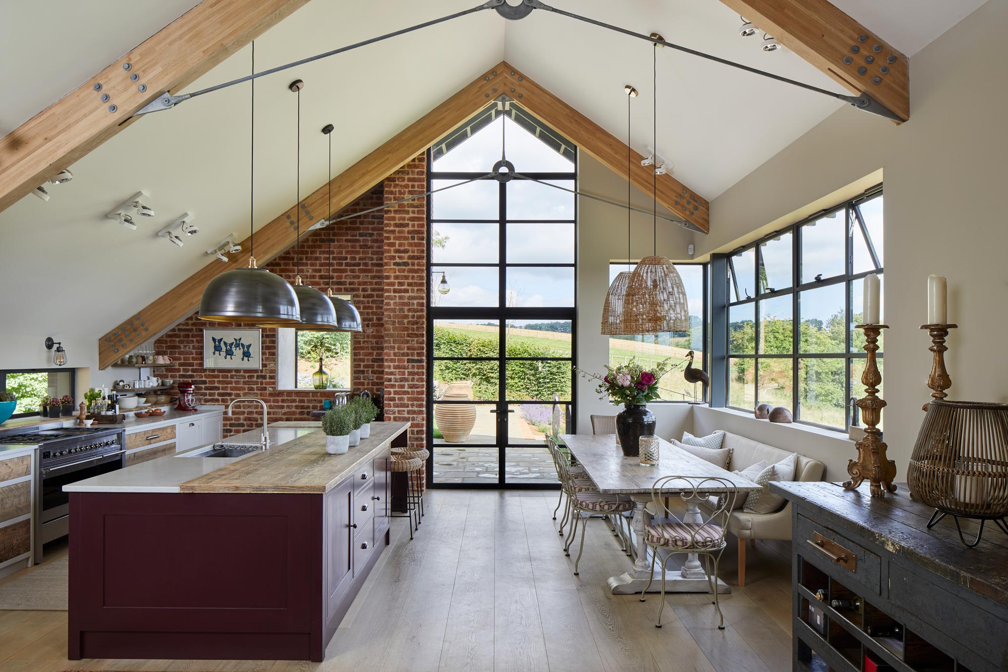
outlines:
[{"label": "white vaulted ceiling between the timber beams", "polygon": [[[834,0],[912,54],[983,0],[955,3]],[[58,100],[134,45],[191,9],[193,0],[163,0],[143,11],[129,0],[10,3],[0,26],[0,135]],[[474,0],[331,2],[311,0],[256,40],[256,70],[413,25],[473,6]],[[556,0],[552,3],[830,90],[830,78],[783,49],[764,53],[758,38],[740,38],[739,19],[724,4],[694,0]],[[923,5],[926,5],[923,6]],[[890,31],[890,33],[887,33]],[[44,34],[44,39],[39,35]],[[301,92],[301,194],[327,180],[320,129],[336,125],[338,175],[502,60],[527,73],[604,129],[626,133],[624,84],[634,102],[631,144],[652,145],[652,47],[632,37],[547,12],[505,21],[492,11],[403,35],[381,44],[262,78],[256,86],[256,203],[261,226],[295,199],[295,96]],[[242,77],[244,47],[195,82],[196,90]],[[657,51],[657,153],[674,176],[714,199],[796,139],[841,104],[824,96],[726,69],[668,48]],[[49,188],[50,200],[27,196],[0,213],[0,281],[30,282],[0,299],[4,315],[30,315],[4,325],[40,333],[72,322],[81,335],[105,332],[183,277],[212,261],[206,254],[229,233],[249,226],[249,87],[194,99],[148,115],[71,165],[75,180]],[[488,166],[489,167],[489,166]],[[144,190],[156,216],[129,231],[106,212]],[[156,232],[184,212],[200,234],[182,248]],[[716,224],[715,224],[716,226]],[[111,279],[110,279],[111,278]],[[113,283],[115,301],[71,302],[40,310],[32,288],[69,289]]]}]

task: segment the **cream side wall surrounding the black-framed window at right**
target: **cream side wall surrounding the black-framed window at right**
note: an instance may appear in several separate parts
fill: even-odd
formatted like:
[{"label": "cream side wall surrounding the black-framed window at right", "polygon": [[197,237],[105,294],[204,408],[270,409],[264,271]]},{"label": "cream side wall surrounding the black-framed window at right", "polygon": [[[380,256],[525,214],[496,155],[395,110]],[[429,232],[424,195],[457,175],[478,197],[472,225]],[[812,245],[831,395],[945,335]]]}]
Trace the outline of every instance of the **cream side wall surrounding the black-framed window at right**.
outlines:
[{"label": "cream side wall surrounding the black-framed window at right", "polygon": [[[822,207],[803,206],[841,200],[850,195],[846,187],[884,171],[885,439],[899,479],[929,395],[930,341],[918,328],[928,273],[948,276],[949,319],[960,327],[948,343],[950,398],[1008,402],[1006,28],[1008,3],[980,7],[912,59],[909,122],[896,126],[852,108],[834,113],[716,199],[711,235],[696,236],[698,256],[731,249],[759,227],[796,221]],[[770,436],[755,420],[732,426]],[[807,450],[827,446],[809,441]],[[832,477],[843,476],[828,463]]]}]

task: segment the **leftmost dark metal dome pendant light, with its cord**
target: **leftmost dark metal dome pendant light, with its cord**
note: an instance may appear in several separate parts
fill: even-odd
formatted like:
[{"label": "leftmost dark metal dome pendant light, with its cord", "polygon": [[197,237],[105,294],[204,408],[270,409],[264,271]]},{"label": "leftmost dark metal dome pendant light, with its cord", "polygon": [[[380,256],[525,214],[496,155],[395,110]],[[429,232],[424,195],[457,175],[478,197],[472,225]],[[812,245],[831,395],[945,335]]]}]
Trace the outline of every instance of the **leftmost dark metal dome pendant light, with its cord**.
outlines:
[{"label": "leftmost dark metal dome pendant light, with its cord", "polygon": [[[255,75],[255,42],[252,42],[252,74]],[[256,267],[255,219],[255,80],[252,80],[252,131],[249,158],[249,265],[221,273],[203,291],[200,319],[211,322],[261,322],[290,325],[300,322],[300,306],[294,289],[279,275]]]}]

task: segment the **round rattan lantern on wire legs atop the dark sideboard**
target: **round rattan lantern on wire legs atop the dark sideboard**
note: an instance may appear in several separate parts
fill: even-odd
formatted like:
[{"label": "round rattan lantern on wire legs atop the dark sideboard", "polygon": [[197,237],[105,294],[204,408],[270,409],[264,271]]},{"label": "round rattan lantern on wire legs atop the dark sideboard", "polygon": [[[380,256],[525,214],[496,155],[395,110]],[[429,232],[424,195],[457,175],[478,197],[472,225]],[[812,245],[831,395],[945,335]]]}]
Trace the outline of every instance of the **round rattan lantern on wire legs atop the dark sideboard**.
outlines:
[{"label": "round rattan lantern on wire legs atop the dark sideboard", "polygon": [[[933,401],[920,426],[906,472],[910,495],[930,507],[928,527],[944,515],[981,521],[1005,532],[1008,516],[1008,405]],[[963,537],[960,530],[960,537]]]}]

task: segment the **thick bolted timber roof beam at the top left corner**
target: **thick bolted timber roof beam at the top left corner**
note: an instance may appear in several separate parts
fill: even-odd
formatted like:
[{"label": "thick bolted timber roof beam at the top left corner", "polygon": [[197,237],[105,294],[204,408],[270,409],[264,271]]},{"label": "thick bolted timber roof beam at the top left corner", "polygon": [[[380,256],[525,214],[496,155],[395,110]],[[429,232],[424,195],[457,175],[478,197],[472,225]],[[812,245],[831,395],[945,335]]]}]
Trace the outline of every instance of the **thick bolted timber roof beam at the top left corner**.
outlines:
[{"label": "thick bolted timber roof beam at the top left corner", "polygon": [[203,0],[0,138],[0,212],[306,3]]}]

